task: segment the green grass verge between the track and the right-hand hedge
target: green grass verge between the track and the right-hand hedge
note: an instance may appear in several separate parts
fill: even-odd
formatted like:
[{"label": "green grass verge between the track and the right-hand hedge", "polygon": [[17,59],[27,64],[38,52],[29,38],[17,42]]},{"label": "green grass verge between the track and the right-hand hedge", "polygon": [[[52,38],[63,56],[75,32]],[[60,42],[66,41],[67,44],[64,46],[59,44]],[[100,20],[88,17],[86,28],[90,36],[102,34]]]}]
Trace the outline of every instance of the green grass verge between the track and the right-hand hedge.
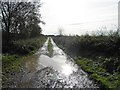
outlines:
[{"label": "green grass verge between the track and the right-hand hedge", "polygon": [[103,88],[118,88],[120,86],[120,73],[108,73],[98,62],[86,58],[77,58],[76,63],[89,73],[90,77]]}]

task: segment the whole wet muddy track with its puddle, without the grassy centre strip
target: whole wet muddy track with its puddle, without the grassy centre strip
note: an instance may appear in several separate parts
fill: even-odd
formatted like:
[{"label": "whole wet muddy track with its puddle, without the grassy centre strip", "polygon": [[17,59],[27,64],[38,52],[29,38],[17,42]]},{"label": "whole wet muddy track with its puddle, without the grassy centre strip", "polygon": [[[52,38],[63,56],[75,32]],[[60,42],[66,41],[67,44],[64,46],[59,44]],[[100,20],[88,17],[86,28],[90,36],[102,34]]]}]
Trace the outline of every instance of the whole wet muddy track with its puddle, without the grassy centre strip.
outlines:
[{"label": "whole wet muddy track with its puddle, without the grassy centre strip", "polygon": [[[48,38],[49,39],[49,38]],[[30,86],[33,88],[96,88],[88,75],[79,68],[51,39],[53,56],[49,57],[48,39],[43,47],[26,62]],[[28,74],[27,74],[28,75]],[[25,85],[24,83],[22,84]]]}]

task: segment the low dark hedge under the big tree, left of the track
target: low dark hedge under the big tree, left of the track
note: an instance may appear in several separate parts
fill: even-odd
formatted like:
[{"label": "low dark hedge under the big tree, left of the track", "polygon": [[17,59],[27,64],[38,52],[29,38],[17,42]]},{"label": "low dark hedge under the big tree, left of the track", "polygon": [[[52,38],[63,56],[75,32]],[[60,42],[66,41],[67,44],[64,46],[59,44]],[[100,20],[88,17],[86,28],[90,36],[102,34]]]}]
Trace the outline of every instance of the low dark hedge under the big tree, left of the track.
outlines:
[{"label": "low dark hedge under the big tree, left of the track", "polygon": [[9,45],[3,46],[3,53],[26,55],[39,49],[44,42],[45,37],[12,41]]}]

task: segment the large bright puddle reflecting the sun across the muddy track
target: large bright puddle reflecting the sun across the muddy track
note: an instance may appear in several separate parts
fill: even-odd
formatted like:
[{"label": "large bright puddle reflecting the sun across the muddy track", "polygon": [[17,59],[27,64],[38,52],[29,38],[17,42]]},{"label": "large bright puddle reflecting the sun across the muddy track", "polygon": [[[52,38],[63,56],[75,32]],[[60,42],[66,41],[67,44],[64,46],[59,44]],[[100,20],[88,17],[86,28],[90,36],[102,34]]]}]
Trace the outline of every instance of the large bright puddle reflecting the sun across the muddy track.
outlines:
[{"label": "large bright puddle reflecting the sun across the muddy track", "polygon": [[[54,70],[61,72],[67,76],[75,70],[75,68],[70,63],[68,63],[65,56],[55,56],[53,58],[50,58],[46,55],[41,55],[39,57],[38,65],[42,65],[44,67],[52,67]],[[38,67],[38,70],[39,69],[41,68]]]}]

